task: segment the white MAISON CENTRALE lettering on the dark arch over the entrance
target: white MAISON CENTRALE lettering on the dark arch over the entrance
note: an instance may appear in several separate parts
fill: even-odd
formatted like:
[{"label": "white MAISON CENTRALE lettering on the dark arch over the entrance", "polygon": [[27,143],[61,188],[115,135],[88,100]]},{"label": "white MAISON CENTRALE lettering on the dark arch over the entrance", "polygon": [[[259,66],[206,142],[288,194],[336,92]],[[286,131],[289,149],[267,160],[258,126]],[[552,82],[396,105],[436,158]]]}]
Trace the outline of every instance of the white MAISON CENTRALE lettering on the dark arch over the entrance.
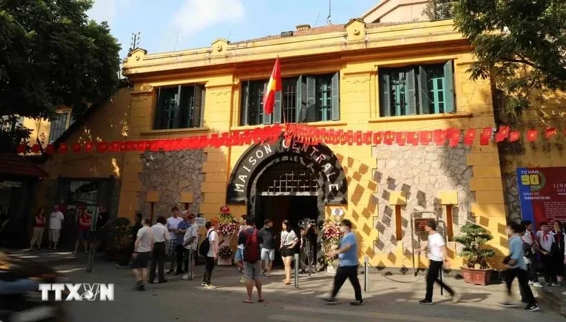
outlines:
[{"label": "white MAISON CENTRALE lettering on the dark arch over the entrance", "polygon": [[[285,141],[282,141],[282,147],[285,152],[293,152],[293,154],[299,154],[305,157],[306,161],[309,163],[306,165],[307,168],[314,169],[315,165],[320,166],[324,177],[326,177],[326,182],[333,182],[338,171],[335,169],[334,165],[329,162],[330,157],[322,153],[320,148],[318,148],[319,145],[310,145],[297,141],[292,141],[290,145],[286,144]],[[257,148],[249,154],[248,159],[244,160],[244,163],[242,163],[242,171],[240,171],[237,175],[237,179],[234,181],[234,191],[244,192],[246,183],[257,164],[273,155],[273,153],[273,145],[257,145]],[[328,190],[338,190],[338,184],[329,184]]]}]

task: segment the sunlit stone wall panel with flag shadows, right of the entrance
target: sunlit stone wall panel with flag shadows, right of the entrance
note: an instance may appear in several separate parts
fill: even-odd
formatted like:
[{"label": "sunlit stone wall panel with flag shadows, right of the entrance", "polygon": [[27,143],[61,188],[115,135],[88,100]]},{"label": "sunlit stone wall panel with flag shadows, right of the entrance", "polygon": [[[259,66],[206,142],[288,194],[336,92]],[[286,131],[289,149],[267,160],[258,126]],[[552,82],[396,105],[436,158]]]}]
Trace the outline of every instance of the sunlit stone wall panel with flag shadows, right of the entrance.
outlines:
[{"label": "sunlit stone wall panel with flag shadows, right of the entrance", "polygon": [[[456,190],[458,205],[453,206],[453,234],[471,219],[470,204],[475,202],[474,192],[469,191],[472,168],[467,165],[470,153],[467,146],[398,146],[381,145],[373,148],[378,167],[374,180],[378,183],[375,202],[378,203],[378,219],[375,229],[378,240],[375,253],[393,253],[402,242],[405,254],[412,252],[411,212],[433,211],[440,216],[440,232],[446,222],[445,209],[440,205],[440,191]],[[395,205],[389,205],[392,191],[403,191],[407,205],[402,206],[401,241],[396,238]],[[415,235],[415,248],[420,247],[421,234]]]}]

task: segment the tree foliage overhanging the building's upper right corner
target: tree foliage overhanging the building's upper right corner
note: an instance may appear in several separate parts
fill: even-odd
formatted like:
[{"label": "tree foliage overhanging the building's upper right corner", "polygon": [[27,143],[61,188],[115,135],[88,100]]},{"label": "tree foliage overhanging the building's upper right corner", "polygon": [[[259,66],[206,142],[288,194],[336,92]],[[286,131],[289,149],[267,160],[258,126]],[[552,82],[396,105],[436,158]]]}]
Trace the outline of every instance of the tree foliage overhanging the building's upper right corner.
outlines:
[{"label": "tree foliage overhanging the building's upper right corner", "polygon": [[563,0],[458,0],[454,23],[471,40],[472,79],[491,79],[505,94],[505,115],[530,107],[529,94],[566,89]]}]

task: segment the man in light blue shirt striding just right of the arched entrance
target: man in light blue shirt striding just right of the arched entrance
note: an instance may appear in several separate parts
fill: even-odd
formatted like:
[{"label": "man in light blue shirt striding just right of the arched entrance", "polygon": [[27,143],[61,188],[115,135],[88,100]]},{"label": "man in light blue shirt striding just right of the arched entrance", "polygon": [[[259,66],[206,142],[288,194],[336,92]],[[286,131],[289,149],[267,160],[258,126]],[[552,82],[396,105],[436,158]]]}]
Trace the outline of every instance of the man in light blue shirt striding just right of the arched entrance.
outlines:
[{"label": "man in light blue shirt striding just right of the arched entrance", "polygon": [[340,263],[338,263],[338,270],[336,270],[336,275],[334,276],[334,287],[332,289],[332,294],[328,299],[324,301],[328,303],[336,303],[336,294],[346,279],[350,280],[354,288],[355,301],[350,302],[351,305],[363,305],[364,300],[362,299],[362,288],[360,288],[360,281],[358,281],[358,241],[355,239],[355,234],[352,231],[352,223],[348,219],[342,219],[340,221],[340,232],[344,234],[340,245],[337,250],[329,252],[329,256],[335,257],[338,255]]}]

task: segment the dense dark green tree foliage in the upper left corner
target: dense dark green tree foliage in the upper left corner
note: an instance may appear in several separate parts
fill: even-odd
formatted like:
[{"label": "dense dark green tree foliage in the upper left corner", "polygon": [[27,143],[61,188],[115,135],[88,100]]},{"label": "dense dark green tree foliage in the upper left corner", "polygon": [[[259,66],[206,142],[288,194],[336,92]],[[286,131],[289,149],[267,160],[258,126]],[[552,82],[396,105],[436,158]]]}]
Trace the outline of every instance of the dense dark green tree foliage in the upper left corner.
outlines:
[{"label": "dense dark green tree foliage in the upper left corner", "polygon": [[120,46],[108,23],[89,21],[92,0],[0,1],[0,116],[79,115],[119,83]]}]

